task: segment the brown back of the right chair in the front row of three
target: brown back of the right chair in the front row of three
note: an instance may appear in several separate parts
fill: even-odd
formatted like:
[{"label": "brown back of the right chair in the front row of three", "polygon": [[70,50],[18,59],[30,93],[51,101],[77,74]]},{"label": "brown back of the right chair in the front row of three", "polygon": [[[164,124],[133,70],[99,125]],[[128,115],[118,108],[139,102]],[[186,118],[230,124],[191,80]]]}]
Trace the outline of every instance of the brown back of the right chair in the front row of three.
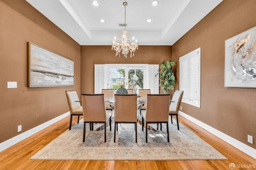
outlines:
[{"label": "brown back of the right chair in the front row of three", "polygon": [[168,122],[170,94],[148,94],[146,121]]}]

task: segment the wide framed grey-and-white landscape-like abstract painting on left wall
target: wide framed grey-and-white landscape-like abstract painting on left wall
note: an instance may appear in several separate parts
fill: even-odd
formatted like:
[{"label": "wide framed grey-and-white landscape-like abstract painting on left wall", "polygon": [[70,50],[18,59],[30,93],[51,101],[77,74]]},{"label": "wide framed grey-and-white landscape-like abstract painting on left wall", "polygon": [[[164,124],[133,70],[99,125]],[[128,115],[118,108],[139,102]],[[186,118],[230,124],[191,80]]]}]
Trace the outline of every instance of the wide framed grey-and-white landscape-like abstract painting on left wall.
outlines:
[{"label": "wide framed grey-and-white landscape-like abstract painting on left wall", "polygon": [[31,42],[28,45],[28,87],[74,85],[74,61]]}]

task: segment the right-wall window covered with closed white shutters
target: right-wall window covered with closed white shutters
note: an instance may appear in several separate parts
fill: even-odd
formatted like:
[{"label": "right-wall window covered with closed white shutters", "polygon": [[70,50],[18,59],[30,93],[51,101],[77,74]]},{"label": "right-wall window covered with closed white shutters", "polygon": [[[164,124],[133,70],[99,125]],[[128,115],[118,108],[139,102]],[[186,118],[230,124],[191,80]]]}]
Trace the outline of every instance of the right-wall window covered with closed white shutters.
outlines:
[{"label": "right-wall window covered with closed white shutters", "polygon": [[201,47],[180,57],[182,102],[200,108]]}]

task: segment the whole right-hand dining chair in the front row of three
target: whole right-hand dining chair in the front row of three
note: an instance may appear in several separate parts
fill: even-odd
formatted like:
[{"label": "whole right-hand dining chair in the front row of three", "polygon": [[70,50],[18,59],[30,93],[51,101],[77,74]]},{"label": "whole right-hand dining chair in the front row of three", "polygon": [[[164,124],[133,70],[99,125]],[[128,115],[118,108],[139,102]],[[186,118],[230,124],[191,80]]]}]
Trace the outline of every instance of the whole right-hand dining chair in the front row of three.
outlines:
[{"label": "whole right-hand dining chair in the front row of three", "polygon": [[142,111],[142,131],[146,123],[146,142],[148,142],[148,123],[166,123],[169,142],[169,105],[170,94],[148,94],[146,110]]}]

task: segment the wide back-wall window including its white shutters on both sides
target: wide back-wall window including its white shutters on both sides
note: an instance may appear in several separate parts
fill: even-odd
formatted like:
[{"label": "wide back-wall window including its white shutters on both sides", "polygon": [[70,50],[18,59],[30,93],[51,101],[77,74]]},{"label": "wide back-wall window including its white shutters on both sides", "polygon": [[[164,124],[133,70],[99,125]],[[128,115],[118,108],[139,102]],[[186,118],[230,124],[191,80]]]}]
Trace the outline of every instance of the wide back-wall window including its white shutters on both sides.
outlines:
[{"label": "wide back-wall window including its white shutters on both sides", "polygon": [[159,93],[159,77],[155,77],[159,65],[156,64],[95,64],[94,93],[102,89],[150,89],[152,94]]}]

